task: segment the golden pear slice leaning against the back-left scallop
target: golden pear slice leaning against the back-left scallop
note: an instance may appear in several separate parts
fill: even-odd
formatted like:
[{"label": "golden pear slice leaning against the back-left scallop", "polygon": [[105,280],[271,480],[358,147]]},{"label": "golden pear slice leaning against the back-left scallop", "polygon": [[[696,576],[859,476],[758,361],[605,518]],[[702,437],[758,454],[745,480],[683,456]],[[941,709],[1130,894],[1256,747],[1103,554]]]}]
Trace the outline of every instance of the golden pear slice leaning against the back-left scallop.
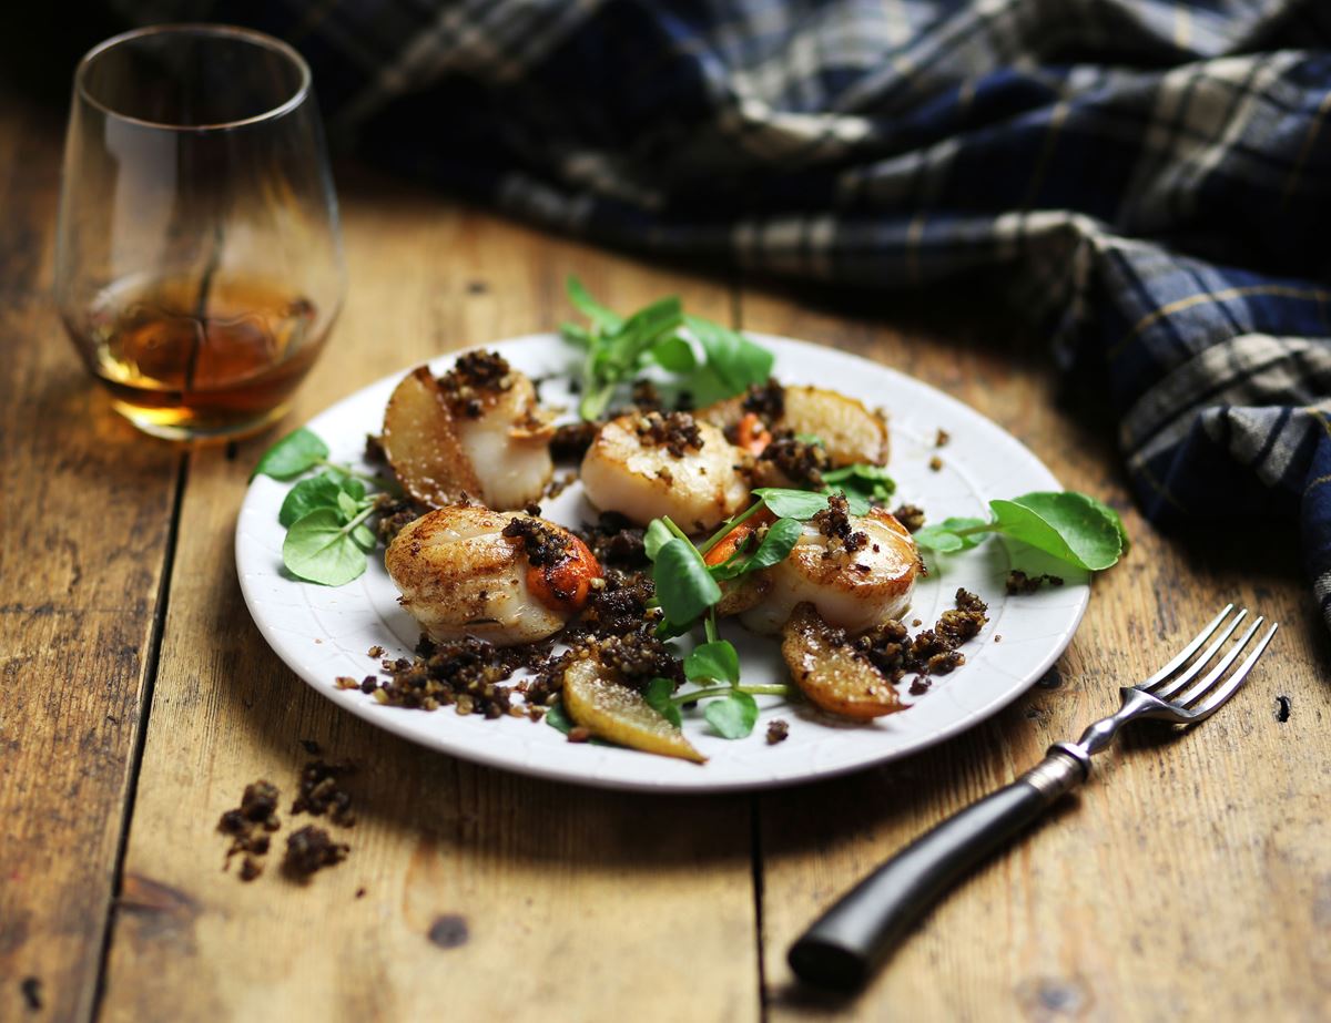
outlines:
[{"label": "golden pear slice leaning against the back-left scallop", "polygon": [[480,498],[480,482],[429,366],[418,366],[393,391],[383,412],[382,440],[402,487],[422,504],[442,508],[463,495]]}]

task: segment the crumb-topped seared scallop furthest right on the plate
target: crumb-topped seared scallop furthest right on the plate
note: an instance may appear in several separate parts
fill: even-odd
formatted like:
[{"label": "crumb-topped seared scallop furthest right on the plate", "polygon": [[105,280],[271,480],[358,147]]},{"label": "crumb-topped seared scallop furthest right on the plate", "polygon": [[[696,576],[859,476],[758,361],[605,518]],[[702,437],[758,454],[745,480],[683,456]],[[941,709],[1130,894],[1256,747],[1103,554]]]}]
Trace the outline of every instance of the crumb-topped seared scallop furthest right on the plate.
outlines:
[{"label": "crumb-topped seared scallop furthest right on the plate", "polygon": [[[804,523],[791,555],[760,576],[760,599],[740,615],[753,632],[777,633],[799,604],[849,633],[864,632],[910,607],[920,555],[890,513],[847,513],[833,496],[827,511]],[[749,603],[749,601],[745,601]]]}]

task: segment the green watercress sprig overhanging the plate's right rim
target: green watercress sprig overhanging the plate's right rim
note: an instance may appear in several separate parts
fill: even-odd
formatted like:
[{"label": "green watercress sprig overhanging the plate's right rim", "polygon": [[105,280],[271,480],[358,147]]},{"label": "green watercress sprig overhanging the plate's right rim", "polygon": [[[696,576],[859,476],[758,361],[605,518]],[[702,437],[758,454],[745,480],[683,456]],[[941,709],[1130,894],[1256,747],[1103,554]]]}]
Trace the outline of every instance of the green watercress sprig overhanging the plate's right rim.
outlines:
[{"label": "green watercress sprig overhanging the plate's right rim", "polygon": [[945,519],[914,533],[920,547],[953,553],[974,547],[985,533],[1021,540],[1061,561],[1102,572],[1127,549],[1118,512],[1075,491],[1037,491],[1012,500],[992,500],[993,519]]}]

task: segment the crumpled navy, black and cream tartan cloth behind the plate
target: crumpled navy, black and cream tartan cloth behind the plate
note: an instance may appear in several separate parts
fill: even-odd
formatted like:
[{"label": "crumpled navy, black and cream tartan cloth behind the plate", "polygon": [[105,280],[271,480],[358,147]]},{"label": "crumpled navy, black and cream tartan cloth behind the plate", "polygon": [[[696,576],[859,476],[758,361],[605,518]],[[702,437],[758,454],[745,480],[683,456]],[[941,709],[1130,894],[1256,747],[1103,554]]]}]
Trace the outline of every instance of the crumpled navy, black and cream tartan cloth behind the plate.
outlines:
[{"label": "crumpled navy, black and cream tartan cloth behind the plate", "polygon": [[562,231],[865,289],[1001,270],[1145,513],[1296,517],[1331,624],[1331,3],[120,7],[287,39],[335,138]]}]

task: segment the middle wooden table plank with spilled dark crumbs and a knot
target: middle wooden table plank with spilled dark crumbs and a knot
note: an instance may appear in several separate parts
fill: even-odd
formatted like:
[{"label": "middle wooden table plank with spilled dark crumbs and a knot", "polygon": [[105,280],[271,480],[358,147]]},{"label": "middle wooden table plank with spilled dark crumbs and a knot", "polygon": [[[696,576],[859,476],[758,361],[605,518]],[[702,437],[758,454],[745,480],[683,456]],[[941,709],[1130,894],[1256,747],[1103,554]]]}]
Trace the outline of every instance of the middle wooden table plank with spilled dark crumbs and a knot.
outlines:
[{"label": "middle wooden table plank with spilled dark crumbs and a knot", "polygon": [[[679,289],[728,313],[715,285],[398,181],[343,184],[343,210],[351,294],[291,422],[413,361],[550,327],[568,271],[619,307]],[[233,527],[260,447],[190,467],[105,1019],[756,1018],[748,801],[531,781],[337,712],[269,652],[237,588]],[[286,818],[302,738],[365,765],[351,855],[305,887],[270,855],[242,885],[220,869],[217,817],[264,777]],[[459,919],[467,941],[439,947]]]}]

